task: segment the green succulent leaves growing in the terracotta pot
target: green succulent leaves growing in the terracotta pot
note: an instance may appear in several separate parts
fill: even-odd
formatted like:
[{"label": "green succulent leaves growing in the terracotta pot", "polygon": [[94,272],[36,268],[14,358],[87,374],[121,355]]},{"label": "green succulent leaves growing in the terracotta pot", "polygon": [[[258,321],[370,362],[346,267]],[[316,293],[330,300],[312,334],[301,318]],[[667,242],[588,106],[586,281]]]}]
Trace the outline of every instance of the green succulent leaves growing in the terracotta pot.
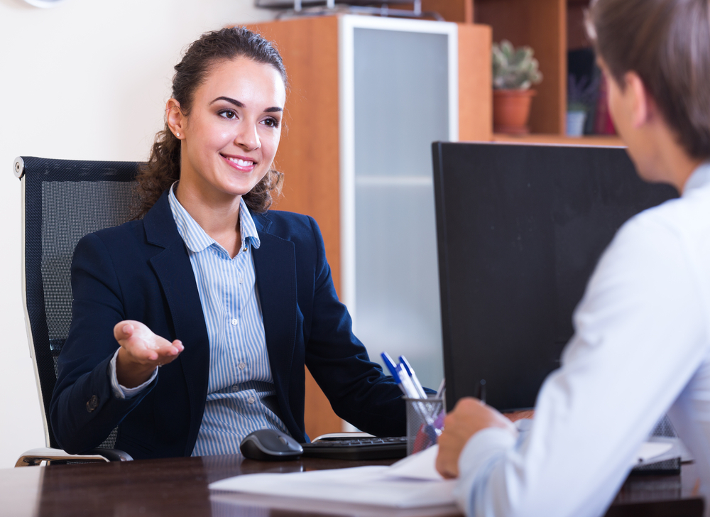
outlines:
[{"label": "green succulent leaves growing in the terracotta pot", "polygon": [[508,40],[493,43],[493,88],[528,89],[540,83],[540,64],[532,54],[532,48],[516,49]]}]

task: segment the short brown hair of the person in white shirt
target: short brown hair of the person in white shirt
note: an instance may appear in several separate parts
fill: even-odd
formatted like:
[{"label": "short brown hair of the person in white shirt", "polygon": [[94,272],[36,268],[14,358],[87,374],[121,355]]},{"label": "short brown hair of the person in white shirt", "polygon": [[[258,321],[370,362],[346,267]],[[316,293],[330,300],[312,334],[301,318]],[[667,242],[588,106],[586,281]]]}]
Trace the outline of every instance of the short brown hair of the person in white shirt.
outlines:
[{"label": "short brown hair of the person in white shirt", "polygon": [[614,80],[633,71],[692,158],[710,157],[710,0],[596,0],[596,52]]}]

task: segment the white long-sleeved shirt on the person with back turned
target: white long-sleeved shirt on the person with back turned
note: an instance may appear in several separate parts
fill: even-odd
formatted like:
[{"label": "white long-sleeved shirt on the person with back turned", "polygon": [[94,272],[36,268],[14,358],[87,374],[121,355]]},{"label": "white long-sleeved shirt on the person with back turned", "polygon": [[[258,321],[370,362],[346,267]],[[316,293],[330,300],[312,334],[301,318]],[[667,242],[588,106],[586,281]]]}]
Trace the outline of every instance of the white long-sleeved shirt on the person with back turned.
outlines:
[{"label": "white long-sleeved shirt on the person with back turned", "polygon": [[466,443],[456,494],[467,515],[603,515],[666,412],[707,493],[710,164],[680,199],[621,227],[573,319],[574,337],[540,388],[530,432],[518,440],[488,428]]}]

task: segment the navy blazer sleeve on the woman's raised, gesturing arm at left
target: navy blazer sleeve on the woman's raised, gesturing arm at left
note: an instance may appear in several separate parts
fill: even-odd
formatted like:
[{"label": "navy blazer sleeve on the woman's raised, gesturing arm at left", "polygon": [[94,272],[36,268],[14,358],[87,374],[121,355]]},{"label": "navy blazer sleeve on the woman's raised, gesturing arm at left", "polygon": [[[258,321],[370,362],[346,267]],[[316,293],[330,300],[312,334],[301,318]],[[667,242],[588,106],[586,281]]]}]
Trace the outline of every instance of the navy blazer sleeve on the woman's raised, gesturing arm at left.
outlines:
[{"label": "navy blazer sleeve on the woman's raised, gesturing arm at left", "polygon": [[58,358],[50,423],[59,445],[72,454],[98,447],[150,392],[116,398],[108,366],[119,344],[114,325],[126,319],[112,258],[97,234],[79,241],[72,259],[72,324]]}]

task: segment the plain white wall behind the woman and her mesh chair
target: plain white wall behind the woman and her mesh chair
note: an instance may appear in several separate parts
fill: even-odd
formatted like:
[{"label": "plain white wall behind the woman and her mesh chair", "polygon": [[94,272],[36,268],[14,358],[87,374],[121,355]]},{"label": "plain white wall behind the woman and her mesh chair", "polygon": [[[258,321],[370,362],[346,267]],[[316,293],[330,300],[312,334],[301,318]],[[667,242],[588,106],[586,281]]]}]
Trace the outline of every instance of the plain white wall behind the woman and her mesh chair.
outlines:
[{"label": "plain white wall behind the woman and her mesh chair", "polygon": [[0,468],[43,447],[20,288],[16,156],[144,160],[180,50],[273,16],[253,0],[0,0]]}]

